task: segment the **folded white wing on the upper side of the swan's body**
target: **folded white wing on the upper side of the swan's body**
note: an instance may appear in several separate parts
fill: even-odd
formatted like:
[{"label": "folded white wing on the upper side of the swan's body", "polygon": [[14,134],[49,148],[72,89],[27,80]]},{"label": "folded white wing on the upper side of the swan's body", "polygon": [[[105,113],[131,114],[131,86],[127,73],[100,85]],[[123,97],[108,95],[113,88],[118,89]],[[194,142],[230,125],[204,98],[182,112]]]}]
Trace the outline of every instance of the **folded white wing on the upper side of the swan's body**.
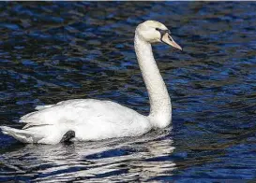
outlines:
[{"label": "folded white wing on the upper side of the swan's body", "polygon": [[141,120],[144,117],[126,106],[111,101],[75,99],[63,101],[56,105],[41,106],[38,111],[23,116],[20,121],[26,123],[23,127],[26,129],[43,125],[76,126],[84,123],[90,123],[88,126],[102,126],[104,123],[118,123],[127,126],[128,123],[136,119],[139,120],[138,118]]}]

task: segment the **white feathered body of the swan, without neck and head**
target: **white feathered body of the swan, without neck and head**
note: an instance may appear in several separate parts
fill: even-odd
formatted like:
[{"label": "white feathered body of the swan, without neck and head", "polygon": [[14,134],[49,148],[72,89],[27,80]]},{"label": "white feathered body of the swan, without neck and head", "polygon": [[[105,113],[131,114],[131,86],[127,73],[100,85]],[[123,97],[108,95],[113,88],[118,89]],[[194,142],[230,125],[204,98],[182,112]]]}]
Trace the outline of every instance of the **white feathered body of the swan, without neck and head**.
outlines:
[{"label": "white feathered body of the swan, without neck and head", "polygon": [[[23,134],[33,134],[30,138],[18,139],[24,143],[55,144],[68,131],[75,132],[72,140],[85,141],[141,135],[151,129],[150,122],[136,111],[111,101],[94,99],[68,100],[40,107],[20,121],[26,123]],[[2,130],[10,128],[2,127]]]}]

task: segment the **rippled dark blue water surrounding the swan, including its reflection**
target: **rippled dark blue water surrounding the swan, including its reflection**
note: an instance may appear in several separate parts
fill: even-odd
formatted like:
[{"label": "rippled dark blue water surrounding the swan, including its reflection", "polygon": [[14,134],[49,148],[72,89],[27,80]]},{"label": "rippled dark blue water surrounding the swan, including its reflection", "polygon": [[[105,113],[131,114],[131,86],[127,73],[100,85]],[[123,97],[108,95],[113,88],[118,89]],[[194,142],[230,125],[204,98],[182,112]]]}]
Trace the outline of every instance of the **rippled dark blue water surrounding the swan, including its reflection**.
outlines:
[{"label": "rippled dark blue water surrounding the swan, including its reflection", "polygon": [[0,134],[0,181],[256,181],[254,2],[1,2],[0,121],[35,106],[108,99],[149,110],[133,50],[145,20],[184,51],[154,46],[173,125],[141,137],[23,145]]}]

